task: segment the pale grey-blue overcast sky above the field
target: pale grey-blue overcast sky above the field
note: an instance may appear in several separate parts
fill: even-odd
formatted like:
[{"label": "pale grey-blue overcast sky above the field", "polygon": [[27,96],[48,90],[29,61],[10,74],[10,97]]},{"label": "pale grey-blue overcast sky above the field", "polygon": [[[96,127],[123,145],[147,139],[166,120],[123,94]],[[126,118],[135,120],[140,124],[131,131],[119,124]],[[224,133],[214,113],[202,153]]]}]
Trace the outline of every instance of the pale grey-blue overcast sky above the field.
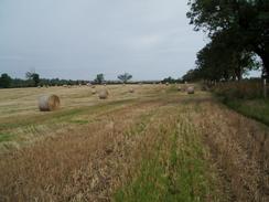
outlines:
[{"label": "pale grey-blue overcast sky above the field", "polygon": [[24,77],[181,77],[205,35],[187,0],[0,0],[0,73]]}]

